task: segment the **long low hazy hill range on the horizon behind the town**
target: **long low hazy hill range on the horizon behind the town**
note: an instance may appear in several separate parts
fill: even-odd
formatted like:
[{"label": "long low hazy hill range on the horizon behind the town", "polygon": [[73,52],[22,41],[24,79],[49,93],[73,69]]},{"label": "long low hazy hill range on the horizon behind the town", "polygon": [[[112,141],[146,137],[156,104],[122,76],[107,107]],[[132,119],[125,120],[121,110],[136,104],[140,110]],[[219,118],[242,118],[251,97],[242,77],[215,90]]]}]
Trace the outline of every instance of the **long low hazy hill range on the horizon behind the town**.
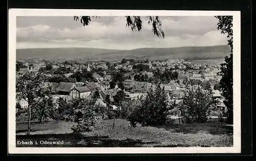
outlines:
[{"label": "long low hazy hill range on the horizon behind the town", "polygon": [[228,45],[173,48],[137,48],[115,50],[100,48],[26,48],[17,49],[17,60],[106,60],[126,59],[223,59],[230,53]]}]

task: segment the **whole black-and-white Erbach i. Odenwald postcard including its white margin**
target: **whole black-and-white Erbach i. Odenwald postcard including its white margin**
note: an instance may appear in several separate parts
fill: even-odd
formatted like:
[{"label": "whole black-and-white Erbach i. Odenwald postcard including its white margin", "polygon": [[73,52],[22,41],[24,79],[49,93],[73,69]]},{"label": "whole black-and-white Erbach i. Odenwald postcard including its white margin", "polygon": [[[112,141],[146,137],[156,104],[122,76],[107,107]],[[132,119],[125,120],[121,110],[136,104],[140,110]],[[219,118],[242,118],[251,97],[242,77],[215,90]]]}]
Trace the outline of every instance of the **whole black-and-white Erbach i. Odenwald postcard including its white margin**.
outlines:
[{"label": "whole black-and-white Erbach i. Odenwald postcard including its white margin", "polygon": [[11,10],[9,150],[240,152],[240,13],[140,12]]}]

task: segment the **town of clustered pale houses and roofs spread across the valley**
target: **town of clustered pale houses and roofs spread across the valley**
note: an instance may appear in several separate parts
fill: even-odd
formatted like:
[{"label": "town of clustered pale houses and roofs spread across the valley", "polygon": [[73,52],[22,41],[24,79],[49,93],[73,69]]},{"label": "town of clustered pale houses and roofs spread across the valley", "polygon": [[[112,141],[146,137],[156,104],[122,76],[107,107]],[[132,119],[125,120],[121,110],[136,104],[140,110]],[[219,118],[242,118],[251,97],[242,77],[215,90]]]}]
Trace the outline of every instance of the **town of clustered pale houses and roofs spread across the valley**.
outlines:
[{"label": "town of clustered pale houses and roofs spread across the valley", "polygon": [[[146,92],[151,87],[156,87],[156,73],[177,73],[177,76],[167,78],[160,81],[161,87],[164,88],[166,94],[172,96],[177,102],[182,101],[182,91],[184,89],[184,80],[194,79],[196,81],[207,82],[214,97],[220,100],[216,106],[220,111],[226,112],[226,106],[223,103],[223,97],[215,85],[218,85],[221,76],[218,74],[220,65],[201,65],[193,64],[183,59],[169,59],[158,61],[134,61],[123,59],[121,62],[91,62],[87,60],[84,63],[75,61],[65,62],[49,62],[49,61],[35,61],[35,62],[19,62],[21,65],[17,69],[16,75],[23,74],[26,71],[40,72],[47,70],[50,64],[50,69],[47,76],[54,77],[56,75],[63,75],[66,78],[60,81],[42,82],[42,88],[51,88],[56,94],[53,96],[57,103],[59,98],[68,101],[72,98],[90,98],[95,91],[99,91],[100,98],[96,103],[106,106],[105,99],[109,96],[113,109],[117,106],[114,104],[114,96],[118,91],[123,90],[125,93],[125,101],[129,102],[138,98],[144,97]],[[116,83],[113,85],[113,73],[115,71],[123,73],[122,84]],[[168,71],[168,72],[167,72]],[[60,73],[58,73],[60,72]],[[92,73],[92,79],[79,78],[79,73]],[[73,75],[73,76],[72,76]],[[74,76],[76,75],[76,76]],[[145,76],[142,78],[141,76]],[[73,81],[70,81],[73,78]],[[158,76],[161,79],[162,76]],[[116,79],[116,78],[115,78]],[[59,80],[59,79],[58,79]],[[158,82],[159,83],[159,82]],[[123,86],[123,87],[120,87]],[[16,101],[22,108],[28,107],[28,102],[16,94]]]}]

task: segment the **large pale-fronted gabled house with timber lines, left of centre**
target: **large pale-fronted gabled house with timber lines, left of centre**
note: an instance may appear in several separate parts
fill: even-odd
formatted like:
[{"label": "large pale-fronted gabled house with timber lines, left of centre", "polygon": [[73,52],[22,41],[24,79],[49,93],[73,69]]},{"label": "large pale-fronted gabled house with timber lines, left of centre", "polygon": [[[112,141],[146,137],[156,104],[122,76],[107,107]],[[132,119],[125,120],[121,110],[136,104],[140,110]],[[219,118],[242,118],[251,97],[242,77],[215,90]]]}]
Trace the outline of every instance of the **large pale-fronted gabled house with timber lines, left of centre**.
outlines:
[{"label": "large pale-fronted gabled house with timber lines, left of centre", "polygon": [[72,98],[88,98],[88,96],[91,94],[91,90],[87,86],[83,87],[74,87],[70,90],[70,96]]}]

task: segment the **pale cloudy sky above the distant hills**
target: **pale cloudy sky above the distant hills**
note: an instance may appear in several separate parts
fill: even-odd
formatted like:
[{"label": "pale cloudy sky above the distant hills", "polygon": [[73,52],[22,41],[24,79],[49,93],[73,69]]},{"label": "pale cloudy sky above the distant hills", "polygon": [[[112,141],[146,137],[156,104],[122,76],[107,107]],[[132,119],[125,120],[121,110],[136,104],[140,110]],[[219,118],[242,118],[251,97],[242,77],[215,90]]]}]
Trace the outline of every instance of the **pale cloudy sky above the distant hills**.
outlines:
[{"label": "pale cloudy sky above the distant hills", "polygon": [[124,16],[92,18],[88,26],[70,16],[19,16],[16,48],[92,47],[106,49],[226,45],[214,16],[160,16],[165,38],[152,32],[147,17],[142,30],[126,27]]}]

